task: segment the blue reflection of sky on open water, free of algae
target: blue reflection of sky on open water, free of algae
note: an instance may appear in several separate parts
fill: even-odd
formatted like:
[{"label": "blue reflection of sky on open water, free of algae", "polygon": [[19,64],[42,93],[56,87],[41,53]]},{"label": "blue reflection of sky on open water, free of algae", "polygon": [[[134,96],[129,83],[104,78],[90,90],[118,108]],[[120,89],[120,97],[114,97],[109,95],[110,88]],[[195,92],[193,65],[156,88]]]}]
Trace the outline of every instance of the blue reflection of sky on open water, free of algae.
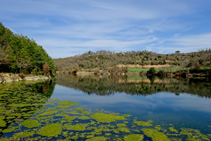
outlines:
[{"label": "blue reflection of sky on open water, free of algae", "polygon": [[110,112],[131,114],[139,120],[152,119],[156,124],[174,124],[181,128],[198,128],[211,132],[211,99],[196,95],[161,92],[148,96],[116,93],[109,96],[88,95],[56,85],[51,98],[79,102],[88,109],[104,109]]}]

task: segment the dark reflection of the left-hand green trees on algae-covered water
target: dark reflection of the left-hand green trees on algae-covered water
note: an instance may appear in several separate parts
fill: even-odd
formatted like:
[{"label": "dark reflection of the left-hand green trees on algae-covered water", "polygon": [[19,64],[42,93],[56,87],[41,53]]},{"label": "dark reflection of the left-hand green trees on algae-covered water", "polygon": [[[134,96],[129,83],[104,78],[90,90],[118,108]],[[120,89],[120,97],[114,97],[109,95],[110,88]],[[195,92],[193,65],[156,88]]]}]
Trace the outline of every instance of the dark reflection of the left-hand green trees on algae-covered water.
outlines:
[{"label": "dark reflection of the left-hand green trees on algae-covered water", "polygon": [[40,109],[52,95],[54,85],[53,81],[35,84],[16,82],[0,85],[0,116],[3,117],[0,128],[2,132],[11,123],[28,119],[37,109]]}]

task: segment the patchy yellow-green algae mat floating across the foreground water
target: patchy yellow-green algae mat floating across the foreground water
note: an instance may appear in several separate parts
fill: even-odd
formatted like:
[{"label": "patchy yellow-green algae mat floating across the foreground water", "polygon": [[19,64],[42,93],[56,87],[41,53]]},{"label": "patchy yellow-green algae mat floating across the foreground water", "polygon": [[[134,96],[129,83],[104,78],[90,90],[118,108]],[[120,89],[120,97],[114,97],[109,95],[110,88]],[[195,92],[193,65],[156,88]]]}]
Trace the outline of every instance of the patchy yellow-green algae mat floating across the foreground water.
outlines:
[{"label": "patchy yellow-green algae mat floating across the foreground water", "polygon": [[[154,125],[129,114],[85,109],[79,103],[48,99],[28,89],[0,91],[0,140],[178,141],[211,139],[195,129]],[[169,127],[171,125],[171,127]],[[152,126],[149,128],[149,126]],[[143,133],[147,136],[144,136]],[[5,137],[9,138],[5,138]]]}]

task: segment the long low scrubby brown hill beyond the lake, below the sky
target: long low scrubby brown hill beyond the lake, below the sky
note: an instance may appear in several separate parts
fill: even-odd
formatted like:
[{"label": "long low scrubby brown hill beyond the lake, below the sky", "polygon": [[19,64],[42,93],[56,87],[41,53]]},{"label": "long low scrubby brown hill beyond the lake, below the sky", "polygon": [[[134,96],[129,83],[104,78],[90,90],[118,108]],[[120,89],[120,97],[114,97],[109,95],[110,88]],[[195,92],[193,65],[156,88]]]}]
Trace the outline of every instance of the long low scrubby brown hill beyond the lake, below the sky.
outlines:
[{"label": "long low scrubby brown hill beyond the lake, below the sky", "polygon": [[57,70],[73,69],[108,69],[119,64],[123,65],[164,65],[169,64],[177,67],[194,67],[196,64],[200,67],[211,65],[211,50],[201,50],[191,53],[180,53],[176,51],[172,54],[158,54],[149,51],[131,51],[131,52],[111,52],[97,51],[87,52],[74,57],[54,59]]}]

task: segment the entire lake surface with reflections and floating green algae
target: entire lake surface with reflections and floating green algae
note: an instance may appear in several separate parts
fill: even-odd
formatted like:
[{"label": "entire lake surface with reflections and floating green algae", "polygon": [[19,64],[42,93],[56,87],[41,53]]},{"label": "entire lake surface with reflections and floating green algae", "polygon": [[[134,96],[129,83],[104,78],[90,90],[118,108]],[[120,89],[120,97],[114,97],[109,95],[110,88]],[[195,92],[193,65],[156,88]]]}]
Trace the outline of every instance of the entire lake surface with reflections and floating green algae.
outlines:
[{"label": "entire lake surface with reflections and floating green algae", "polygon": [[2,140],[211,139],[207,79],[60,75],[0,84],[0,97]]}]

